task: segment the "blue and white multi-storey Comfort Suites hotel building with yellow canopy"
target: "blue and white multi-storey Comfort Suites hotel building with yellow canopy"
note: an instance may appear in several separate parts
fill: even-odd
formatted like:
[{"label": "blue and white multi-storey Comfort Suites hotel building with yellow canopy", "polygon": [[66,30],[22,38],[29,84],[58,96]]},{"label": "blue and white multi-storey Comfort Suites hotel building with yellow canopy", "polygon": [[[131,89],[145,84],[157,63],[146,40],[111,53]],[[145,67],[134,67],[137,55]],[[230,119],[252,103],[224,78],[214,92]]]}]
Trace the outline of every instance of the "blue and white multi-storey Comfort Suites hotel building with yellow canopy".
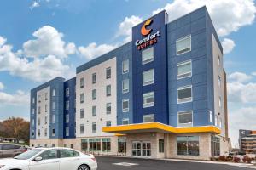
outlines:
[{"label": "blue and white multi-storey Comfort Suites hotel building with yellow canopy", "polygon": [[162,11],[132,41],[31,91],[32,146],[207,160],[229,151],[223,48],[206,7]]}]

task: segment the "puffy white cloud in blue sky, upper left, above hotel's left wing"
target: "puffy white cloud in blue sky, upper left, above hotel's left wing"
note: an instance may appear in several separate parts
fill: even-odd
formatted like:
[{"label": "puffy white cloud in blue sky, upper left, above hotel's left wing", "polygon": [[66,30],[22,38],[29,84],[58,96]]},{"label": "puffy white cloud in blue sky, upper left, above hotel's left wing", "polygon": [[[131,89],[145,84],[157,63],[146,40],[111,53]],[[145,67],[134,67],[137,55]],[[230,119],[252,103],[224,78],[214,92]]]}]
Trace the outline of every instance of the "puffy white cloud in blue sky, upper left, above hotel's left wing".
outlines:
[{"label": "puffy white cloud in blue sky, upper left, above hotel's left wing", "polygon": [[45,55],[55,55],[63,59],[68,54],[75,54],[73,42],[62,40],[63,34],[52,26],[43,26],[32,34],[37,39],[28,40],[23,44],[23,51],[27,57],[41,57]]}]

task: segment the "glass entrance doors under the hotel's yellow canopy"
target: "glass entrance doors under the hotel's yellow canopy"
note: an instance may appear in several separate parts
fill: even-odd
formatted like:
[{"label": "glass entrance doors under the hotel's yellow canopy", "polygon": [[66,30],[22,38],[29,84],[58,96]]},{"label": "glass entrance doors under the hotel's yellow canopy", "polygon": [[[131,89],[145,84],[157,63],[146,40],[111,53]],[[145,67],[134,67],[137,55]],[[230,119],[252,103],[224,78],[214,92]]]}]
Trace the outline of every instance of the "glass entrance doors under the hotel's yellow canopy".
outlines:
[{"label": "glass entrance doors under the hotel's yellow canopy", "polygon": [[131,155],[135,157],[150,157],[151,143],[146,141],[133,141]]}]

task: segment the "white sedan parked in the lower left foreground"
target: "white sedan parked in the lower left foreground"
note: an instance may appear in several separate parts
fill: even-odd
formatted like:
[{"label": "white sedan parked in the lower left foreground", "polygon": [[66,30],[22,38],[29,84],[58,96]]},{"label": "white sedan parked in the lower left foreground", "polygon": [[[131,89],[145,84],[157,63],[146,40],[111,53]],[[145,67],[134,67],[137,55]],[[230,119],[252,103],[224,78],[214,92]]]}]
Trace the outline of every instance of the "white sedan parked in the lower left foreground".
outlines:
[{"label": "white sedan parked in the lower left foreground", "polygon": [[67,148],[35,148],[0,159],[0,170],[96,170],[94,156]]}]

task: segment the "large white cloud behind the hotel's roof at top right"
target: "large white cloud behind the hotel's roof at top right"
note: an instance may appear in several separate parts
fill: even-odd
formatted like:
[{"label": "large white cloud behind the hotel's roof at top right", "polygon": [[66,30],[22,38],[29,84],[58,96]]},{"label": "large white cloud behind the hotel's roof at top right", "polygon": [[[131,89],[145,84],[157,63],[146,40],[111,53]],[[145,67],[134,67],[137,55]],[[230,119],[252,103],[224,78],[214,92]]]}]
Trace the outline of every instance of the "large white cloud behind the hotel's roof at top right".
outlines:
[{"label": "large white cloud behind the hotel's roof at top right", "polygon": [[175,20],[204,5],[207,6],[219,36],[227,36],[238,31],[241,26],[251,25],[255,18],[256,7],[253,0],[174,0],[164,8],[155,10],[153,14],[166,9],[169,19]]}]

